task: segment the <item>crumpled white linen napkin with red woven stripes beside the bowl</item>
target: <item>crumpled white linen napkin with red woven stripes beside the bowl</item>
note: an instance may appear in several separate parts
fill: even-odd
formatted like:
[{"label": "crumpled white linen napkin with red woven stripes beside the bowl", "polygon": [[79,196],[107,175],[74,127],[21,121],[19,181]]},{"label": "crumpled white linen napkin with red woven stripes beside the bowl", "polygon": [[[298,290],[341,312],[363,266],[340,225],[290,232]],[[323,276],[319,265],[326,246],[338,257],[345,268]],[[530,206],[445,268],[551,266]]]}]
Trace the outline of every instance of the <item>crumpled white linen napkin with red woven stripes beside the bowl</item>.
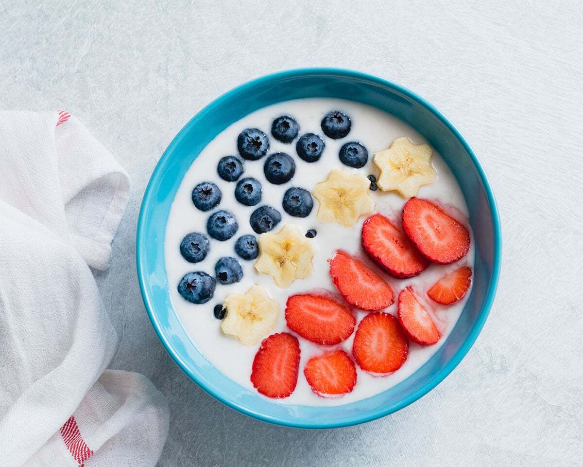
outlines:
[{"label": "crumpled white linen napkin with red woven stripes beside the bowl", "polygon": [[109,265],[128,176],[70,114],[0,112],[0,466],[154,466],[166,400],[106,370]]}]

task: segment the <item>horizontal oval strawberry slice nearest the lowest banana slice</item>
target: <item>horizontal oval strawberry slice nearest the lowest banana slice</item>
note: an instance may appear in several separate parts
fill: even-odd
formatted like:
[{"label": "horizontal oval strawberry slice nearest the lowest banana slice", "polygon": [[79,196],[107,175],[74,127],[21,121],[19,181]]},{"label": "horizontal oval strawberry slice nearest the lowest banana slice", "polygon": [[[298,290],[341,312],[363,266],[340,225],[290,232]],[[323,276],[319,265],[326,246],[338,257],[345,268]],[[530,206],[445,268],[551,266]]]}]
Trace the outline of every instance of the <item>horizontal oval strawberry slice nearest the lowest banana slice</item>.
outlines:
[{"label": "horizontal oval strawberry slice nearest the lowest banana slice", "polygon": [[286,304],[286,322],[304,339],[332,346],[347,339],[356,319],[347,306],[325,295],[291,295]]}]

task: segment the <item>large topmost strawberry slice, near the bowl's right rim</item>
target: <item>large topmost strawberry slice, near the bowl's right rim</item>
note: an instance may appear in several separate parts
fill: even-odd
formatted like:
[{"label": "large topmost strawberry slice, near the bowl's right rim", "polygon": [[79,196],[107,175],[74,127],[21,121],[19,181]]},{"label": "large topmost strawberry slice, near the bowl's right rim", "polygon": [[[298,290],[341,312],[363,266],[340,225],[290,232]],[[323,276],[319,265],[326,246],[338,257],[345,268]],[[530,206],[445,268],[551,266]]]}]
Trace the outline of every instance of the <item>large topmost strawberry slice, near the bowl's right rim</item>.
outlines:
[{"label": "large topmost strawberry slice, near the bowl's right rim", "polygon": [[468,253],[468,229],[430,201],[411,198],[405,203],[403,229],[434,263],[453,263]]}]

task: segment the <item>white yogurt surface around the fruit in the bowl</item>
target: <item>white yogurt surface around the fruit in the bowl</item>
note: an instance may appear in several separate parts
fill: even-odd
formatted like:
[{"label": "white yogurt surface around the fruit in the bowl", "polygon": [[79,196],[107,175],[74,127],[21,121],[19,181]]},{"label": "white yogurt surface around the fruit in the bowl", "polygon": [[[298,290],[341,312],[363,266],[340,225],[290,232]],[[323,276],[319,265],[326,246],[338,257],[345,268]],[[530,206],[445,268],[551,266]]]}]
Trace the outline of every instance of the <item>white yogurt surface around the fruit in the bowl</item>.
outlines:
[{"label": "white yogurt surface around the fruit in the bowl", "polygon": [[[349,135],[341,140],[332,140],[331,138],[325,137],[320,128],[320,122],[324,114],[335,109],[344,111],[352,120],[352,128]],[[298,121],[300,124],[300,135],[304,133],[315,133],[324,139],[326,148],[318,162],[304,162],[297,156],[297,138],[291,144],[283,144],[271,136],[271,123],[276,117],[281,115],[290,115]],[[220,179],[216,172],[216,166],[222,156],[237,155],[237,135],[245,128],[253,127],[260,128],[268,134],[271,145],[268,154],[272,154],[273,152],[286,152],[293,156],[294,161],[296,161],[296,174],[286,184],[279,186],[273,185],[265,179],[263,173],[265,157],[259,161],[244,161],[245,172],[242,177],[255,177],[261,182],[263,187],[261,203],[254,207],[247,207],[238,203],[234,197],[236,182],[225,182]],[[378,176],[377,169],[372,163],[373,153],[387,148],[391,144],[391,141],[402,136],[410,138],[415,144],[426,142],[413,128],[374,107],[347,100],[319,98],[298,99],[264,107],[245,116],[217,135],[203,149],[184,176],[184,180],[182,180],[174,198],[166,227],[165,259],[168,283],[170,284],[170,298],[178,318],[180,318],[184,329],[198,350],[218,370],[222,371],[244,388],[255,391],[250,381],[250,375],[251,364],[259,344],[254,347],[244,347],[236,339],[224,336],[220,330],[221,322],[213,316],[213,307],[216,304],[222,304],[223,299],[227,295],[233,293],[243,294],[252,284],[262,285],[281,306],[279,320],[273,333],[282,331],[290,332],[286,327],[283,313],[287,297],[318,288],[336,292],[328,274],[329,266],[327,262],[336,249],[344,249],[356,255],[361,260],[364,260],[369,266],[373,266],[373,263],[364,255],[360,243],[360,230],[366,217],[362,217],[356,226],[348,229],[338,224],[319,224],[316,219],[316,212],[318,210],[317,200],[314,200],[314,209],[308,217],[291,217],[282,208],[283,193],[291,186],[303,187],[311,191],[315,184],[325,180],[328,172],[334,168],[343,168],[351,172],[360,172],[364,175],[374,174]],[[360,141],[368,149],[368,163],[362,169],[347,168],[339,161],[339,149],[347,141]],[[433,165],[437,170],[437,180],[430,185],[421,187],[418,196],[438,200],[448,208],[449,214],[460,219],[463,224],[469,227],[467,221],[468,208],[463,199],[462,192],[459,189],[455,177],[441,156],[436,152],[433,153]],[[239,229],[233,238],[225,242],[219,242],[209,238],[210,252],[208,256],[202,262],[192,264],[182,258],[179,245],[184,235],[189,232],[202,232],[206,235],[206,219],[214,210],[209,212],[199,211],[191,201],[192,189],[196,184],[203,181],[210,181],[219,186],[223,193],[223,198],[217,209],[222,208],[233,212],[237,217]],[[371,194],[376,203],[375,211],[381,212],[394,220],[400,219],[400,213],[406,200],[396,193],[382,193],[380,190],[372,191]],[[317,236],[312,240],[316,249],[314,273],[310,278],[305,280],[296,280],[286,289],[278,288],[273,283],[271,276],[257,274],[254,269],[254,261],[242,260],[234,252],[234,243],[240,235],[251,233],[257,236],[251,229],[249,216],[255,208],[264,204],[275,207],[282,214],[282,222],[276,226],[274,232],[279,231],[287,223],[298,225],[304,232],[311,228],[317,231]],[[406,287],[406,285],[413,285],[423,297],[429,287],[443,274],[458,267],[465,266],[466,264],[473,267],[474,248],[471,232],[470,236],[472,242],[468,255],[457,263],[448,264],[447,266],[431,264],[420,276],[405,280],[394,279],[382,272],[380,274],[391,284],[391,287],[395,291],[395,298],[399,291]],[[214,276],[215,262],[222,256],[233,256],[240,260],[244,272],[243,280],[237,284],[229,285],[217,283],[215,296],[204,305],[191,304],[182,298],[176,288],[182,276],[188,272],[198,270],[205,271],[211,276]],[[375,269],[378,271],[378,268]],[[429,347],[410,344],[409,357],[405,364],[398,371],[387,377],[374,377],[357,367],[356,386],[354,386],[351,393],[342,398],[321,398],[311,391],[303,375],[304,365],[310,357],[322,353],[323,350],[331,347],[317,346],[305,339],[299,338],[301,361],[297,387],[289,398],[281,399],[280,402],[312,406],[341,405],[368,398],[398,384],[429,360],[445,341],[458,320],[468,296],[469,292],[466,294],[465,299],[447,307],[433,303],[428,304],[433,308],[437,325],[442,332],[440,341],[434,346]],[[395,304],[391,305],[385,311],[396,315],[396,300]],[[357,322],[360,322],[367,313],[358,311],[356,314]],[[354,333],[339,346],[349,354],[352,353],[353,337]]]}]

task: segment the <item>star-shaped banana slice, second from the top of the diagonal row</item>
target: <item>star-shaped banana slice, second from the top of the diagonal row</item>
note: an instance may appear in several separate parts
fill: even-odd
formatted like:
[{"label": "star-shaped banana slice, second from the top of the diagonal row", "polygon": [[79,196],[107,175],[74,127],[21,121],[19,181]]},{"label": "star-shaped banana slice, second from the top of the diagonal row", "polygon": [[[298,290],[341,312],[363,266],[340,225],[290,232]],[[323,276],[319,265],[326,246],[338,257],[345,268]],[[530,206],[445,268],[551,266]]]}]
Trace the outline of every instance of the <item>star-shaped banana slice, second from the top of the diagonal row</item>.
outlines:
[{"label": "star-shaped banana slice, second from the top of the diagonal row", "polygon": [[331,170],[324,182],[316,184],[312,194],[319,202],[318,221],[336,222],[352,227],[361,215],[373,212],[370,180],[361,173]]}]

